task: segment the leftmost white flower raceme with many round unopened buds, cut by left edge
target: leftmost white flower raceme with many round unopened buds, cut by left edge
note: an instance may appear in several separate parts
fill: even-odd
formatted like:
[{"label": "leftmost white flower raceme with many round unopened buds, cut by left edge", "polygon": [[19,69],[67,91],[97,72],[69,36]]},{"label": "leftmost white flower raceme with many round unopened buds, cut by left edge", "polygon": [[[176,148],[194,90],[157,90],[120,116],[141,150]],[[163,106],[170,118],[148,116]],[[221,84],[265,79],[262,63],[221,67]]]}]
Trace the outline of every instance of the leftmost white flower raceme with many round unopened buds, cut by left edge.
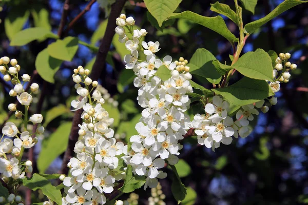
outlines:
[{"label": "leftmost white flower raceme with many round unopened buds, cut by left edge", "polygon": [[[34,134],[43,134],[44,127],[37,127],[32,133],[29,131],[28,123],[41,124],[43,116],[41,114],[33,114],[28,116],[28,110],[32,103],[33,94],[38,93],[38,84],[29,84],[30,76],[23,74],[18,77],[21,67],[17,64],[16,59],[10,59],[5,56],[0,58],[0,72],[4,74],[4,80],[13,85],[13,89],[9,91],[9,95],[16,97],[17,104],[9,104],[8,109],[15,113],[17,123],[6,122],[2,128],[2,137],[0,139],[0,173],[4,176],[2,180],[16,190],[20,187],[21,181],[19,179],[25,178],[26,173],[31,173],[32,161],[23,160],[24,152],[33,147],[37,138],[32,136]],[[30,86],[30,92],[25,91],[25,86]],[[21,106],[20,106],[21,105]],[[23,107],[24,109],[17,109]],[[21,125],[19,125],[21,124]],[[21,127],[21,129],[18,129]],[[10,202],[18,205],[24,204],[21,202],[21,196],[15,196],[11,193],[7,199],[0,197],[1,202]]]}]

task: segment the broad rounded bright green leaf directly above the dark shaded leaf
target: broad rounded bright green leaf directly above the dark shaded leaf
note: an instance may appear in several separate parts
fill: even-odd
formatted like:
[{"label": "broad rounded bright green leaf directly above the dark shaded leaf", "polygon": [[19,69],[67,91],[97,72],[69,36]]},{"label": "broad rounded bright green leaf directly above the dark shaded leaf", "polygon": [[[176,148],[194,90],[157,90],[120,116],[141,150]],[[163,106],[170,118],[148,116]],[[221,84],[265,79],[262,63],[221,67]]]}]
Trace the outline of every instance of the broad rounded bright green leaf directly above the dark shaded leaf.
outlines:
[{"label": "broad rounded bright green leaf directly above the dark shaded leaf", "polygon": [[263,49],[245,53],[233,66],[221,63],[219,66],[222,69],[234,68],[249,78],[273,81],[272,59]]}]

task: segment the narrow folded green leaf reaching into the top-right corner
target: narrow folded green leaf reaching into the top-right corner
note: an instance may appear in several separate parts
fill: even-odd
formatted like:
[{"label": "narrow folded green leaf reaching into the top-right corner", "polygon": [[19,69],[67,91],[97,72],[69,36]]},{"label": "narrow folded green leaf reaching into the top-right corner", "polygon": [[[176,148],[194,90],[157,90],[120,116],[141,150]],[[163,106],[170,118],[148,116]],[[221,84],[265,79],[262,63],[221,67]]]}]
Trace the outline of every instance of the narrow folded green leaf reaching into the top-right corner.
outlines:
[{"label": "narrow folded green leaf reaching into the top-right corner", "polygon": [[308,1],[285,0],[284,2],[279,4],[271,13],[267,14],[263,18],[255,20],[254,22],[251,22],[249,24],[246,24],[244,27],[244,30],[246,33],[252,34],[258,28],[260,28],[263,24],[266,24],[267,22],[269,22],[269,20],[272,20],[273,18],[285,12],[286,10],[291,9],[292,7],[295,7],[299,4],[307,3],[307,2]]}]

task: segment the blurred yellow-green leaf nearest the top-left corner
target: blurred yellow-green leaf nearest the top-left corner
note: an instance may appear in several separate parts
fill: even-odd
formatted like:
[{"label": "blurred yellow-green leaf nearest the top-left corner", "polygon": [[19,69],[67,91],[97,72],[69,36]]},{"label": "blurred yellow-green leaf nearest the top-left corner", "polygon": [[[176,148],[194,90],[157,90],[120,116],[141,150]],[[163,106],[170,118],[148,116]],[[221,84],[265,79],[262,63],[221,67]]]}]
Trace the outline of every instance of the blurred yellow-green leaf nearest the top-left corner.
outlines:
[{"label": "blurred yellow-green leaf nearest the top-left corner", "polygon": [[14,6],[4,20],[5,33],[10,40],[21,31],[27,22],[30,12],[23,6]]}]

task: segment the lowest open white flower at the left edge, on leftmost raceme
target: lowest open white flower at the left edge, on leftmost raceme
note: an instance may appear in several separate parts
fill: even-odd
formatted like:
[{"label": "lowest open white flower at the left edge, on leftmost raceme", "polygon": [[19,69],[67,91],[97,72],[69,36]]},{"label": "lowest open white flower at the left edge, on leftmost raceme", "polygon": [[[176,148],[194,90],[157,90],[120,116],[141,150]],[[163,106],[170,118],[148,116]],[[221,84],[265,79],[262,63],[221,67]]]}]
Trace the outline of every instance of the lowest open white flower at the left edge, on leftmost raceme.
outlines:
[{"label": "lowest open white flower at the left edge, on leftmost raceme", "polygon": [[11,158],[10,161],[5,158],[0,158],[0,173],[6,177],[11,177],[21,172],[20,167],[18,166],[18,159]]}]

